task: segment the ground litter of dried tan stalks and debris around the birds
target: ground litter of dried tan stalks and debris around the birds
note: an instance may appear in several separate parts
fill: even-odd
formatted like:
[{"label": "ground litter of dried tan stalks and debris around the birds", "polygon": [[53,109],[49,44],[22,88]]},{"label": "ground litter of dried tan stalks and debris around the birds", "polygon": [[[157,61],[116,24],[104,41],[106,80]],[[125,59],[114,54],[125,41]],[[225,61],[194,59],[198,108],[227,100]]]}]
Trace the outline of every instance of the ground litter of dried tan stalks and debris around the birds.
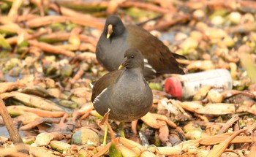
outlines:
[{"label": "ground litter of dried tan stalks and debris around the birds", "polygon": [[[0,3],[0,132],[11,115],[24,143],[0,134],[1,156],[255,156],[255,1]],[[116,139],[100,145],[105,126],[89,83],[107,73],[95,46],[110,14],[186,56],[179,62],[189,73],[229,70],[233,89],[206,86],[176,99],[162,88],[165,74],[151,81],[151,112],[125,123],[126,139],[112,121]]]}]

